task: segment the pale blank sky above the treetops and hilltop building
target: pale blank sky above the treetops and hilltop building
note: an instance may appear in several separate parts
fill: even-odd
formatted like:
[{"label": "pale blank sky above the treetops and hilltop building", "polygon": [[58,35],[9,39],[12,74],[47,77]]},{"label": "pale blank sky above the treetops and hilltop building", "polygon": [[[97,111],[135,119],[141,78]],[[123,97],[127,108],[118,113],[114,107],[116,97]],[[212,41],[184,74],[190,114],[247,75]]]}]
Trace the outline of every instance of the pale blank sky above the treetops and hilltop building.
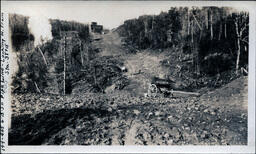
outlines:
[{"label": "pale blank sky above the treetops and hilltop building", "polygon": [[[34,18],[73,20],[81,23],[96,21],[108,29],[116,28],[125,20],[137,18],[140,15],[157,15],[161,11],[168,11],[172,6],[191,5],[191,2],[177,4],[171,1],[1,1],[2,3],[2,10],[8,13],[18,13]],[[211,5],[209,2],[201,3],[193,2],[192,4]],[[232,5],[235,3],[232,2]],[[236,5],[243,6],[241,3]]]}]

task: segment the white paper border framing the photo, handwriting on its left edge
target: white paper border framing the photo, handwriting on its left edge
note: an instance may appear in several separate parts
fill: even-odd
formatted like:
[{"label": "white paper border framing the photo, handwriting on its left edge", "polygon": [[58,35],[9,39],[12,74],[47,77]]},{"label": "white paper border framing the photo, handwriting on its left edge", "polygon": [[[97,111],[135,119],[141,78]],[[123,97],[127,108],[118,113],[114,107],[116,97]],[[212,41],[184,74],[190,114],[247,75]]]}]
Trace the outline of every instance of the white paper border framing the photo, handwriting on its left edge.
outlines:
[{"label": "white paper border framing the photo, handwriting on its left edge", "polygon": [[[86,3],[88,1],[44,1],[63,5],[65,3]],[[90,1],[95,2],[95,1]],[[101,1],[101,3],[110,1]],[[120,1],[112,1],[119,3]],[[8,146],[8,113],[10,98],[4,98],[4,153],[255,153],[255,60],[256,60],[256,2],[245,1],[126,1],[125,3],[166,3],[170,6],[218,6],[241,7],[249,11],[249,78],[248,78],[248,145],[245,146]],[[1,1],[4,13],[9,3],[21,5],[23,2]],[[40,1],[27,1],[24,3],[40,3]],[[95,2],[97,3],[97,2]],[[1,11],[1,12],[2,12]],[[8,25],[8,23],[7,23]],[[5,29],[6,35],[7,29]],[[8,40],[8,36],[6,36]],[[10,89],[8,89],[10,93]],[[10,95],[9,95],[10,96]],[[2,110],[1,110],[2,112]]]}]

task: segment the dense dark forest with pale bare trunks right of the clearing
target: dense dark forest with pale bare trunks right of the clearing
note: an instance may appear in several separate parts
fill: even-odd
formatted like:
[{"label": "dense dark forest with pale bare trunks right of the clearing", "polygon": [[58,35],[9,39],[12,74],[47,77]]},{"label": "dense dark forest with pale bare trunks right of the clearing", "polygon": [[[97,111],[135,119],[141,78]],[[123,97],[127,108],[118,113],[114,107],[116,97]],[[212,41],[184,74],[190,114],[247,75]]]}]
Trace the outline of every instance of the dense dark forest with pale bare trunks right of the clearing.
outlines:
[{"label": "dense dark forest with pale bare trunks right of the clearing", "polygon": [[173,7],[126,20],[118,28],[127,45],[189,54],[193,72],[216,75],[248,68],[248,12],[227,7]]}]

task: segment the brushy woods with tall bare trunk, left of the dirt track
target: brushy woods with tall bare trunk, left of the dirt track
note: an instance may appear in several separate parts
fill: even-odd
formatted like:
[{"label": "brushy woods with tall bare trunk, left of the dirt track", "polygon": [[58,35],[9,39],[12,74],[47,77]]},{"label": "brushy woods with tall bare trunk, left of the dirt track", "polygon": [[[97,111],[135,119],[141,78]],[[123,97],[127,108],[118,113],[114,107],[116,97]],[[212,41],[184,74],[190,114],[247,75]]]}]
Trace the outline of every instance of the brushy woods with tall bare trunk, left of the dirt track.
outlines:
[{"label": "brushy woods with tall bare trunk, left of the dirt track", "polygon": [[[99,49],[91,45],[88,24],[50,19],[52,39],[41,38],[40,43],[35,44],[34,35],[29,28],[29,17],[11,14],[9,20],[13,51],[17,56],[18,65],[18,70],[13,76],[13,92],[102,92],[102,89],[114,81],[126,84],[118,68],[108,68],[109,65],[120,63],[117,58],[97,57]],[[61,35],[65,32],[70,35],[71,40],[64,40]],[[66,70],[63,76],[64,64]],[[80,82],[83,82],[86,88],[82,86],[79,89]]]}]

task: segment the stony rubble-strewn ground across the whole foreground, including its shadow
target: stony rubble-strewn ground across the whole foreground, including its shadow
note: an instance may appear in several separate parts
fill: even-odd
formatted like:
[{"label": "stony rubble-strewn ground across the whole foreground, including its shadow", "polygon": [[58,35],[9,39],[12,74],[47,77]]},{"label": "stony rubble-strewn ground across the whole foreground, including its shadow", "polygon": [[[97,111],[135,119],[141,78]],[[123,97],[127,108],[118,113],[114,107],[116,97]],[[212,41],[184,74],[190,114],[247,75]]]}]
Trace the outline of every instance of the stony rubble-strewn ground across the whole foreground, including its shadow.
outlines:
[{"label": "stony rubble-strewn ground across the whole foreground, including its shadow", "polygon": [[10,145],[245,145],[247,114],[199,98],[22,94]]}]

